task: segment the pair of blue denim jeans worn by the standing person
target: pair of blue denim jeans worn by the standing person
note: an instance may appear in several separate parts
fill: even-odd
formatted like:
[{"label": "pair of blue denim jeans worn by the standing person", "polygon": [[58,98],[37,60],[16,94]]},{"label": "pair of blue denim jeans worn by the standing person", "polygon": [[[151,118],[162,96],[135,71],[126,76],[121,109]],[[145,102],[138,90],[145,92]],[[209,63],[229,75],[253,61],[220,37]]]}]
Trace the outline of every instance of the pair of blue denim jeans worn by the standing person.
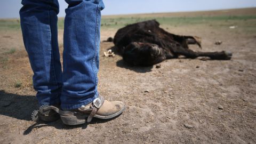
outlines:
[{"label": "pair of blue denim jeans worn by the standing person", "polygon": [[102,0],[66,0],[61,69],[57,0],[22,0],[20,22],[39,105],[76,109],[98,97]]}]

